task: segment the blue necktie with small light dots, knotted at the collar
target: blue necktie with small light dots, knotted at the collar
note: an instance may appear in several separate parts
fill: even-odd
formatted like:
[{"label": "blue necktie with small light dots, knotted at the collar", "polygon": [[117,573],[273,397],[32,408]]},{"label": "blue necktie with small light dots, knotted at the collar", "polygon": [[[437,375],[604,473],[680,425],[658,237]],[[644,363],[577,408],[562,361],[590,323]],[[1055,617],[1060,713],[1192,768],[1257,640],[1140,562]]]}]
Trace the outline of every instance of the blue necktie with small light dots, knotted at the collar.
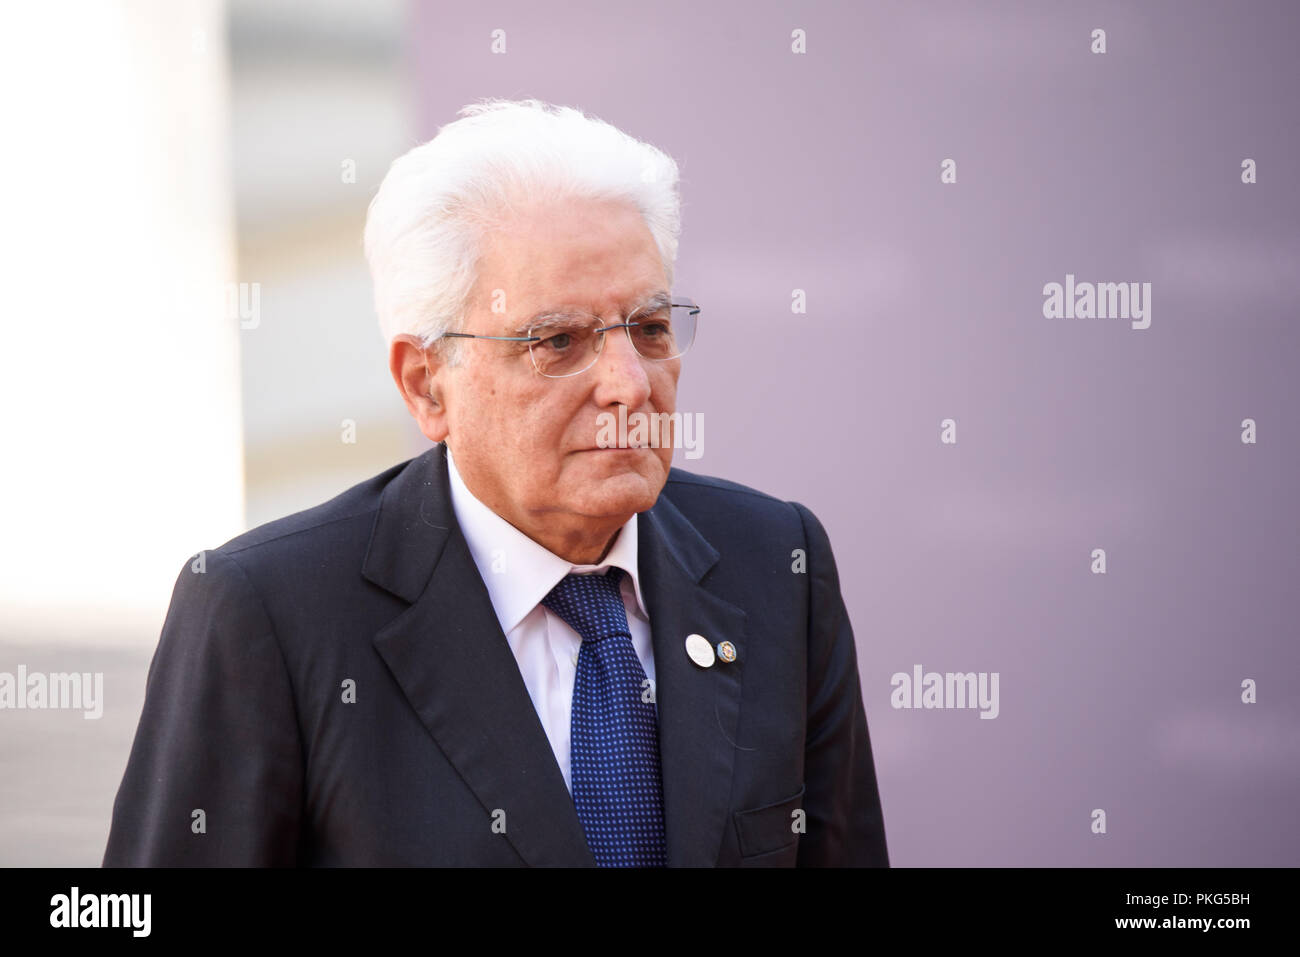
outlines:
[{"label": "blue necktie with small light dots, knotted at the collar", "polygon": [[642,700],[641,667],[619,583],[604,575],[568,575],[542,599],[582,636],[573,681],[569,776],[573,805],[599,867],[667,863],[659,728]]}]

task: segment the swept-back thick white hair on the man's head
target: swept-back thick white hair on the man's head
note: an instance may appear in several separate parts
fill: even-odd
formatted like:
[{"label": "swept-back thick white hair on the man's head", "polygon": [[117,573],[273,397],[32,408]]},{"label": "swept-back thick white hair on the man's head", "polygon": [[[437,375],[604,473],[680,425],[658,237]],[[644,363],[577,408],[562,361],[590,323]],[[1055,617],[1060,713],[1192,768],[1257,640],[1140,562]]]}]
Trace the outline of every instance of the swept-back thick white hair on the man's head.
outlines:
[{"label": "swept-back thick white hair on the man's head", "polygon": [[[374,309],[387,342],[400,333],[429,343],[460,332],[484,238],[533,202],[630,203],[672,286],[681,231],[672,157],[578,109],[533,99],[482,100],[459,116],[394,160],[365,217]],[[447,352],[448,361],[459,352]]]}]

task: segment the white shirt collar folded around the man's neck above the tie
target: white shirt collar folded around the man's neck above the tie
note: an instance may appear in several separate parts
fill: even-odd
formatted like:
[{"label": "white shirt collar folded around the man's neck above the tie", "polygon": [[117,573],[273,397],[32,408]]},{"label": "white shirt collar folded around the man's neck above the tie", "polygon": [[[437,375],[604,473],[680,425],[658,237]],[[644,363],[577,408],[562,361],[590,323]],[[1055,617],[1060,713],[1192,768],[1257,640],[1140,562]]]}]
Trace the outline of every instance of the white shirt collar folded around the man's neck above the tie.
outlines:
[{"label": "white shirt collar folded around the man's neck above the tie", "polygon": [[478,575],[488,586],[493,609],[506,635],[555,588],[566,575],[603,573],[611,566],[627,572],[637,610],[649,620],[637,571],[637,515],[619,529],[614,545],[599,564],[572,564],[538,545],[506,519],[480,502],[456,471],[447,449],[447,476],[451,480],[451,507],[469,545]]}]

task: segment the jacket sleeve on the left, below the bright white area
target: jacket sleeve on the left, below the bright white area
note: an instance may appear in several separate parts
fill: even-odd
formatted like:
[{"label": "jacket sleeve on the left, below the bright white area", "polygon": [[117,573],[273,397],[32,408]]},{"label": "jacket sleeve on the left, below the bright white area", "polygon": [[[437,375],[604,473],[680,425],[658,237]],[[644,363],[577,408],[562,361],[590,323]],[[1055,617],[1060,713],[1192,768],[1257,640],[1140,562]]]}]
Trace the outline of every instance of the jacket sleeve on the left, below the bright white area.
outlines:
[{"label": "jacket sleeve on the left, below the bright white area", "polygon": [[298,862],[303,750],[285,659],[239,563],[203,559],[172,593],[105,867]]}]

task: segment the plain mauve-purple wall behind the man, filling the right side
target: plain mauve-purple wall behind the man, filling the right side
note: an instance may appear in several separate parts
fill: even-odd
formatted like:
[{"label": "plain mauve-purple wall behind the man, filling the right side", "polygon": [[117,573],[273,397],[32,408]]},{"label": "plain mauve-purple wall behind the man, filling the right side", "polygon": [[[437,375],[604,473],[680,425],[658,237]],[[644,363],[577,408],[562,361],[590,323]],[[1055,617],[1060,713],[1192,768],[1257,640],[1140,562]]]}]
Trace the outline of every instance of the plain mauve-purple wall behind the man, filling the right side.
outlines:
[{"label": "plain mauve-purple wall behind the man, filling the right side", "polygon": [[[829,531],[896,865],[1300,865],[1297,27],[1260,1],[416,7],[421,139],[537,96],[681,164],[679,408],[707,429],[676,464]],[[1045,319],[1067,273],[1149,282],[1150,326]],[[915,664],[997,672],[997,718],[896,710]]]}]

